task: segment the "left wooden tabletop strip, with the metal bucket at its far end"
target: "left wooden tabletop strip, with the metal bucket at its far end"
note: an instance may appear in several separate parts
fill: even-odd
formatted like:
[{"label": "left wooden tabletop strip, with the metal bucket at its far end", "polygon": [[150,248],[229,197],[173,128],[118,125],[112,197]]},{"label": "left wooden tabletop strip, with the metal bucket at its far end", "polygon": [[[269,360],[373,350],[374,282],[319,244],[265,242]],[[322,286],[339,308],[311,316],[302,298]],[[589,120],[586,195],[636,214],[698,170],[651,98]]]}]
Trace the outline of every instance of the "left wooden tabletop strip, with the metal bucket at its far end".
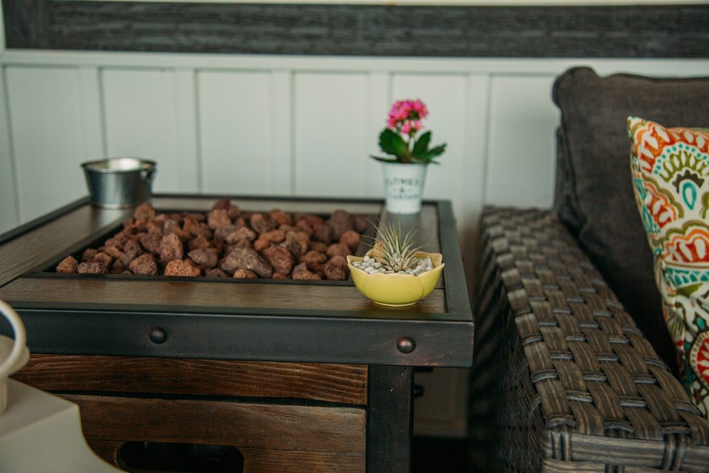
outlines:
[{"label": "left wooden tabletop strip, with the metal bucket at its far end", "polygon": [[0,245],[0,286],[128,214],[86,204]]}]

